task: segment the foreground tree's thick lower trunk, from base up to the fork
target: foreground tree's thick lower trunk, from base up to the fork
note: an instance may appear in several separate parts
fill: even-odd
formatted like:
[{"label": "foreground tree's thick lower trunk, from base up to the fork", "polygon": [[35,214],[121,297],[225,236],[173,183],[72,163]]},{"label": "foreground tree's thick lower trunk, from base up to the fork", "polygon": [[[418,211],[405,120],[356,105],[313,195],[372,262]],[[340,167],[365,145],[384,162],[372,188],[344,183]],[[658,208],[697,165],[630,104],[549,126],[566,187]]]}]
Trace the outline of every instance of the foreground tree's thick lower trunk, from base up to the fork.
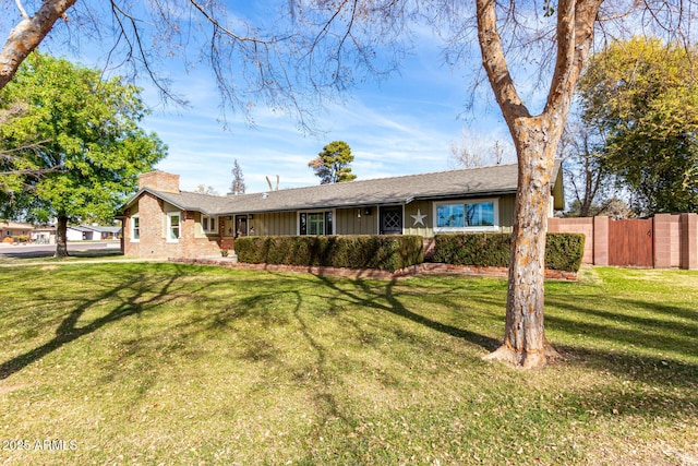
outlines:
[{"label": "foreground tree's thick lower trunk, from base up to the fork", "polygon": [[486,358],[534,368],[558,356],[545,338],[543,309],[545,234],[555,148],[562,131],[543,117],[526,119],[518,130],[518,188],[504,343]]}]

